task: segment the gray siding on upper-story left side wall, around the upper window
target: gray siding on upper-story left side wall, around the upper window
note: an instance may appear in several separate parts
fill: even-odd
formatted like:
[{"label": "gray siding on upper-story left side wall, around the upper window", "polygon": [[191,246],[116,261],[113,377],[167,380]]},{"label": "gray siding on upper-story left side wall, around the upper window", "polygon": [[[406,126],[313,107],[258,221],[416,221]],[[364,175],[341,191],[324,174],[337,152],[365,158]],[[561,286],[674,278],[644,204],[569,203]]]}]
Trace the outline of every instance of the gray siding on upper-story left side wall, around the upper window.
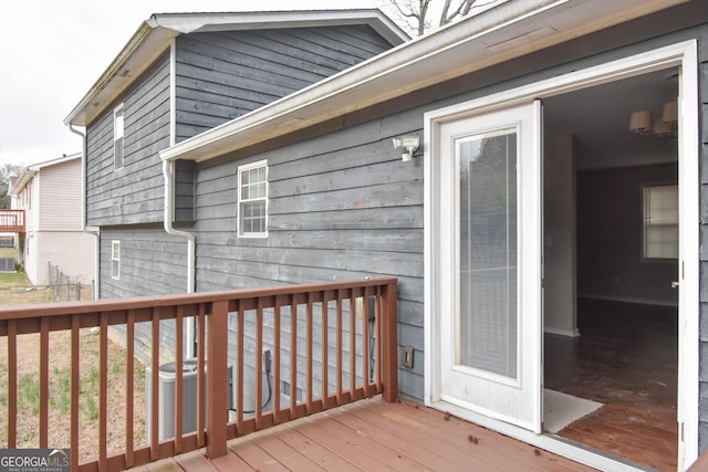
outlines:
[{"label": "gray siding on upper-story left side wall, around the upper window", "polygon": [[[125,167],[114,169],[113,109],[124,104]],[[169,146],[169,63],[160,57],[87,127],[86,218],[90,225],[162,221],[158,153]]]}]

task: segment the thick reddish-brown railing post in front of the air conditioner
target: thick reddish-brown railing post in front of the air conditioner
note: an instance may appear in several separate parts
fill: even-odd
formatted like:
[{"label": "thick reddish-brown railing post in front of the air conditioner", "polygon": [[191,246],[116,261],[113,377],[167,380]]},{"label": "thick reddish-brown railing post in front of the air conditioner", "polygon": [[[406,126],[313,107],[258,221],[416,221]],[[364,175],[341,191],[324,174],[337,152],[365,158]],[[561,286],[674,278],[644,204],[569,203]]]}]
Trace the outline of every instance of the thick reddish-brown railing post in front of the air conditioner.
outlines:
[{"label": "thick reddish-brown railing post in front of the air conditioner", "polygon": [[229,302],[211,305],[207,331],[207,457],[226,455],[227,332]]}]

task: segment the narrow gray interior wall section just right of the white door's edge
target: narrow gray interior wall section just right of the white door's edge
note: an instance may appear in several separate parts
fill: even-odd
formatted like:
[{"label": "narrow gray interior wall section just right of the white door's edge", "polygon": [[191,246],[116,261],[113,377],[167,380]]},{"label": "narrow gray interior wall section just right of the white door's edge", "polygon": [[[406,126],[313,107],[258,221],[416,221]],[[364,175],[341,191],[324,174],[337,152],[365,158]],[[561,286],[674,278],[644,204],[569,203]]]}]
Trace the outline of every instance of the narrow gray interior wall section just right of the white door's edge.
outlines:
[{"label": "narrow gray interior wall section just right of the white door's edge", "polygon": [[577,336],[575,139],[549,130],[543,139],[544,331]]}]

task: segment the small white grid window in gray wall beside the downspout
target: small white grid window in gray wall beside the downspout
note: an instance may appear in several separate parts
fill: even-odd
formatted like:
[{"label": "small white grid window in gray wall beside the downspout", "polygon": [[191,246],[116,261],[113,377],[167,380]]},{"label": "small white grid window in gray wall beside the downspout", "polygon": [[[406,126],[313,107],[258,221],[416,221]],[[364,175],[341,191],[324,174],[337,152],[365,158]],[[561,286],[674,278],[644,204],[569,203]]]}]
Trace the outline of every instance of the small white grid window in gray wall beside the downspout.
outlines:
[{"label": "small white grid window in gray wall beside the downspout", "polygon": [[238,233],[268,237],[268,160],[238,168]]}]

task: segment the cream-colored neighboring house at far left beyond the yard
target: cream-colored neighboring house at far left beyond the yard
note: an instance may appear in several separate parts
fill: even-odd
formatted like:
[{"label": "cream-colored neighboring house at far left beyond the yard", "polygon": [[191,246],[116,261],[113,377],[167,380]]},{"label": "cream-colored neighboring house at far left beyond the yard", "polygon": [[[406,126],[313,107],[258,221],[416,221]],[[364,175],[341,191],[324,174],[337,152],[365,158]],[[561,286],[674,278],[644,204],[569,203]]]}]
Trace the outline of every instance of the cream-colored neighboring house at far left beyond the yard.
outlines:
[{"label": "cream-colored neighboring house at far left beyond the yard", "polygon": [[81,154],[27,167],[10,186],[12,209],[24,210],[18,254],[30,281],[50,282],[49,263],[72,281],[95,277],[96,238],[84,231]]}]

